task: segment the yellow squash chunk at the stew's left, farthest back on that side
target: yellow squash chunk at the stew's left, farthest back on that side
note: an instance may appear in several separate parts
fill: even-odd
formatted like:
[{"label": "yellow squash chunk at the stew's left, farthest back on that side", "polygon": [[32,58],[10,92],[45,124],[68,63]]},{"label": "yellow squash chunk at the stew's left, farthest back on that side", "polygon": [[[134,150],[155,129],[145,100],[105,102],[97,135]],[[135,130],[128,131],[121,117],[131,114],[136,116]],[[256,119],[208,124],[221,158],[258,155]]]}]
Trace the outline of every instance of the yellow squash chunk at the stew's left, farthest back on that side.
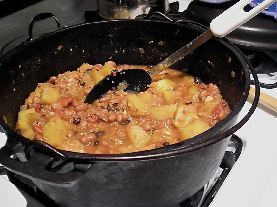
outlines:
[{"label": "yellow squash chunk at the stew's left, farthest back on that side", "polygon": [[44,87],[39,98],[39,104],[51,104],[61,98],[61,94],[55,88]]}]

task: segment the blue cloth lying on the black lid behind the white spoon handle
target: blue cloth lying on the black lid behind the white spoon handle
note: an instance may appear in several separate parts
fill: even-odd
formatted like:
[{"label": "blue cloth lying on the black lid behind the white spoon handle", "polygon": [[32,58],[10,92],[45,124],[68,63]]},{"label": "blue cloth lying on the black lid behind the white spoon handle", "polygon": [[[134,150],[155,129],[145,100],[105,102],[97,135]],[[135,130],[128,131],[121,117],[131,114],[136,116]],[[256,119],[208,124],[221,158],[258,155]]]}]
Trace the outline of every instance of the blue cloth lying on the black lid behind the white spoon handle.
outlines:
[{"label": "blue cloth lying on the black lid behind the white spoon handle", "polygon": [[[199,1],[202,1],[202,2],[205,2],[205,3],[217,3],[217,4],[219,4],[219,3],[225,3],[225,2],[231,1],[231,0],[199,0]],[[261,2],[263,2],[263,0],[253,0],[249,3],[249,5],[251,7],[255,7]],[[270,5],[268,8],[263,10],[261,13],[277,20],[277,2]]]}]

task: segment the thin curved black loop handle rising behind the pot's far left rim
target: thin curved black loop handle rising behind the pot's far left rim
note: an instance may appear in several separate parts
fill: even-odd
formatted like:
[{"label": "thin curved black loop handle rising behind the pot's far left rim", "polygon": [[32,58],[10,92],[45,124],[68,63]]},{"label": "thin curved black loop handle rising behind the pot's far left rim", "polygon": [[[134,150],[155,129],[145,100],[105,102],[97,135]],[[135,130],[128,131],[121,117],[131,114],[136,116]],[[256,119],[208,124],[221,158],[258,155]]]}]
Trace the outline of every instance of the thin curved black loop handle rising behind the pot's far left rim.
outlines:
[{"label": "thin curved black loop handle rising behind the pot's far left rim", "polygon": [[56,21],[57,27],[59,29],[63,28],[61,26],[61,23],[60,23],[59,19],[55,15],[53,15],[52,13],[49,13],[49,12],[40,13],[32,19],[32,21],[29,25],[29,30],[28,30],[29,38],[27,40],[23,41],[22,44],[26,44],[26,43],[33,40],[33,27],[34,27],[35,23],[37,23],[38,21],[41,21],[41,20],[46,20],[48,18],[54,18],[54,20]]}]

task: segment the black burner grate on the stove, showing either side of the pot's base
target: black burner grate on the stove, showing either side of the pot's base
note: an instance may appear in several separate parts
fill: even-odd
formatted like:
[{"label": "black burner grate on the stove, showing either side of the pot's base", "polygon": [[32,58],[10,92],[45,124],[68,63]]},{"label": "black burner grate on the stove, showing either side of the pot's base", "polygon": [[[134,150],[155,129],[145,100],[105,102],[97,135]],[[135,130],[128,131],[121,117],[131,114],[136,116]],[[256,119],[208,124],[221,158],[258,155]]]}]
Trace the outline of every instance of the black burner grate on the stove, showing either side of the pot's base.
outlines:
[{"label": "black burner grate on the stove, showing either side of the pot's base", "polygon": [[[230,173],[235,162],[239,158],[242,152],[242,141],[236,136],[232,135],[222,162],[210,179],[210,181],[205,184],[197,193],[195,193],[191,198],[183,201],[177,206],[173,207],[208,207],[213,199],[215,198],[217,192],[222,186],[227,175]],[[30,195],[33,199],[41,202],[45,206],[60,207],[55,201],[47,197],[40,189],[38,189],[33,182],[27,178],[20,175],[14,174],[0,167],[0,175],[7,175],[10,182],[15,184],[21,190]]]}]

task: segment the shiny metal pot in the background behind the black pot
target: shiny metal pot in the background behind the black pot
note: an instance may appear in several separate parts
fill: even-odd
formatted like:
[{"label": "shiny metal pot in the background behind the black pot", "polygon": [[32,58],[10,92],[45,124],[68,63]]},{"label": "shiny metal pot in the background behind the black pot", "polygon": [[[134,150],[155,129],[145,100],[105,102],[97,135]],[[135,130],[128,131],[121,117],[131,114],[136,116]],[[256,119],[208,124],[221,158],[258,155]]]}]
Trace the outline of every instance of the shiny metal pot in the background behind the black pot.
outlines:
[{"label": "shiny metal pot in the background behind the black pot", "polygon": [[97,0],[98,14],[105,19],[134,19],[141,14],[169,11],[168,0]]}]

